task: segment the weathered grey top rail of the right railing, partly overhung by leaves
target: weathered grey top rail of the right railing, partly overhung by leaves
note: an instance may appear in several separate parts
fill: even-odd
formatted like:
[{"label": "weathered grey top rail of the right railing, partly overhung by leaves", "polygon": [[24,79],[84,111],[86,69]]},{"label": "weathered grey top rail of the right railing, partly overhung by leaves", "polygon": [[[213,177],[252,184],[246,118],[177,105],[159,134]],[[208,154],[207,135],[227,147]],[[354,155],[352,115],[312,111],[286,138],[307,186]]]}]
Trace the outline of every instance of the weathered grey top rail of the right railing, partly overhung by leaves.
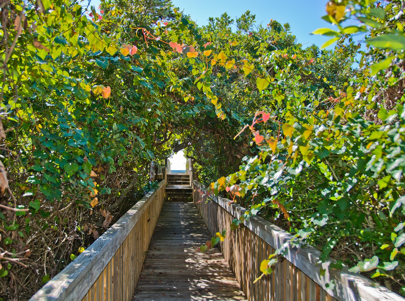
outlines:
[{"label": "weathered grey top rail of the right railing, partly overhung by leaves", "polygon": [[[203,191],[203,193],[207,193],[205,187],[196,180],[193,181],[193,184]],[[232,203],[230,199],[213,196],[212,194],[208,196],[235,218],[239,219],[246,211],[242,206]],[[248,220],[244,220],[243,224],[274,249],[280,248],[293,238],[287,231],[259,216],[253,216]],[[322,265],[318,264],[320,251],[311,246],[300,245],[299,247],[289,247],[284,257],[337,300],[405,300],[384,286],[348,271],[346,267],[337,271],[328,269],[331,262],[322,263]],[[324,276],[321,276],[321,267],[326,269]]]}]

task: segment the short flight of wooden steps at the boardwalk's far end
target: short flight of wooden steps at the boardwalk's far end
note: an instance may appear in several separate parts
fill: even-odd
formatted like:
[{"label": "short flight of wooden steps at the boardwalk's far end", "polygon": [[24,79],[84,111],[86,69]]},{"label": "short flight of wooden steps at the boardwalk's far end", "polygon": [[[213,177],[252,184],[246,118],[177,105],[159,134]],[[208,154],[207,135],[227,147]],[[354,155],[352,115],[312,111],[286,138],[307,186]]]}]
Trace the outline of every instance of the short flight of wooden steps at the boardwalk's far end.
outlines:
[{"label": "short flight of wooden steps at the boardwalk's far end", "polygon": [[190,175],[167,174],[164,201],[193,201],[193,189],[190,186]]}]

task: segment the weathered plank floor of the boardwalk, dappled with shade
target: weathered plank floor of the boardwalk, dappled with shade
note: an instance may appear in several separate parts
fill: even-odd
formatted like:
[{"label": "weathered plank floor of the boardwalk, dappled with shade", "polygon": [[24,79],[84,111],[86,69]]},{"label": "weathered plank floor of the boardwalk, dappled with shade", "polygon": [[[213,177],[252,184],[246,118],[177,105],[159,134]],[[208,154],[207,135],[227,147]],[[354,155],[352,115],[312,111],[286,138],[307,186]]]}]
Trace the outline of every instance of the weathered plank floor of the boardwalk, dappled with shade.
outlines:
[{"label": "weathered plank floor of the boardwalk, dappled with shade", "polygon": [[193,203],[165,202],[132,300],[247,300],[217,248],[195,252],[210,237]]}]

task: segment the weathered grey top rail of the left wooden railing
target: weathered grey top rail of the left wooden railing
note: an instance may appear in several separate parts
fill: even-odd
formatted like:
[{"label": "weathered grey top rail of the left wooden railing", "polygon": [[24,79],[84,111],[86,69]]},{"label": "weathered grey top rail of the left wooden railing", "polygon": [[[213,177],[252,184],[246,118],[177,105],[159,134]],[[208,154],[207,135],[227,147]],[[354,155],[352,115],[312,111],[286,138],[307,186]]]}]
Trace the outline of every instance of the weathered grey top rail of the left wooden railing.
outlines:
[{"label": "weathered grey top rail of the left wooden railing", "polygon": [[164,184],[162,181],[157,189],[149,191],[117,223],[38,290],[30,301],[83,299]]}]

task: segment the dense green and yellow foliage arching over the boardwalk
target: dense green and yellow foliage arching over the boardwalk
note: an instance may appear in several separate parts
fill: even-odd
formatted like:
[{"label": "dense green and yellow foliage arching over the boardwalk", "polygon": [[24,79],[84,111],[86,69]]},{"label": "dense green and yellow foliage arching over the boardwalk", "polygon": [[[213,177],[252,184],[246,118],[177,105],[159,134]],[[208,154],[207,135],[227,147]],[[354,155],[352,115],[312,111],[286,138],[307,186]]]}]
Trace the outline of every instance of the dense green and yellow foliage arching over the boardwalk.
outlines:
[{"label": "dense green and yellow foliage arching over the boardwalk", "polygon": [[181,149],[243,218],[404,294],[403,6],[328,2],[321,50],[249,11],[198,27],[169,1],[2,2],[0,297],[28,299]]}]

